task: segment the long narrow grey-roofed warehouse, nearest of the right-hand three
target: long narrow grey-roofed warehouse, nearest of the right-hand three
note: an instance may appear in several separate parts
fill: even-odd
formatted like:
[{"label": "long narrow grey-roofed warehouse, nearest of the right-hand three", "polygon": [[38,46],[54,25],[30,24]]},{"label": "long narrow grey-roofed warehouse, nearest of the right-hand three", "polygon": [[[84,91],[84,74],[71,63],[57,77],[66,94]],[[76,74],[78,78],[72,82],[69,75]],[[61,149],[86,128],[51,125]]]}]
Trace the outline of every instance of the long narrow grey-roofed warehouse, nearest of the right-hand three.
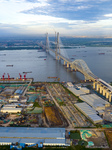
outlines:
[{"label": "long narrow grey-roofed warehouse, nearest of the right-hand three", "polygon": [[100,118],[97,114],[96,111],[90,107],[88,104],[85,102],[83,103],[76,103],[75,106],[84,114],[86,115],[90,120],[93,121],[93,123],[100,123],[102,122],[102,118]]}]

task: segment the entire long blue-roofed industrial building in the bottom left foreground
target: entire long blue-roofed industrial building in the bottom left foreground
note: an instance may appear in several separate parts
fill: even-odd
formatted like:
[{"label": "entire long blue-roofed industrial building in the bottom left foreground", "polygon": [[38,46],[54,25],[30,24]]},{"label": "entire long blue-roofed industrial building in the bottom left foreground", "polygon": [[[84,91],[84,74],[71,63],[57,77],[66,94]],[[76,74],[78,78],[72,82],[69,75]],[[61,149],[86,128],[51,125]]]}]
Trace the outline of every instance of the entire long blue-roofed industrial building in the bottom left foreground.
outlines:
[{"label": "entire long blue-roofed industrial building in the bottom left foreground", "polygon": [[0,127],[0,145],[43,143],[44,146],[65,146],[65,128]]}]

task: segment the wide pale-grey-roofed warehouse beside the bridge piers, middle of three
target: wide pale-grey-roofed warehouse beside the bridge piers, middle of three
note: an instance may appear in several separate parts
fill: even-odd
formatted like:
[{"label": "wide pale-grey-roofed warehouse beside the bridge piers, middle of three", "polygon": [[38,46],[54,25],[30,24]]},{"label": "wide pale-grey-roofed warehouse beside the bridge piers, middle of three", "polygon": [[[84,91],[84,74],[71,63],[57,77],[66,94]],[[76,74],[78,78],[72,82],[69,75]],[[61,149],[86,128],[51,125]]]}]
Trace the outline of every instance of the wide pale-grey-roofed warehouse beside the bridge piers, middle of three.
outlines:
[{"label": "wide pale-grey-roofed warehouse beside the bridge piers, middle of three", "polygon": [[110,106],[109,102],[96,94],[81,95],[79,98],[88,103],[96,111],[104,110],[105,107]]}]

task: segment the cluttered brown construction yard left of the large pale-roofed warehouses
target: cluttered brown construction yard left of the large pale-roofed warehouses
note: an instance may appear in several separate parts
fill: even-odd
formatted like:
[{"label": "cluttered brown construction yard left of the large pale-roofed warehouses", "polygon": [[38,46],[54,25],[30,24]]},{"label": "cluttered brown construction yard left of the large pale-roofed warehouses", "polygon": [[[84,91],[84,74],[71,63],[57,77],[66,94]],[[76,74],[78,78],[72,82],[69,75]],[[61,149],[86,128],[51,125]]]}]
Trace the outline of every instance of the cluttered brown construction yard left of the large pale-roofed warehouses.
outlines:
[{"label": "cluttered brown construction yard left of the large pale-roofed warehouses", "polygon": [[0,126],[83,127],[92,126],[74,104],[73,94],[59,83],[31,79],[2,79],[0,85]]}]

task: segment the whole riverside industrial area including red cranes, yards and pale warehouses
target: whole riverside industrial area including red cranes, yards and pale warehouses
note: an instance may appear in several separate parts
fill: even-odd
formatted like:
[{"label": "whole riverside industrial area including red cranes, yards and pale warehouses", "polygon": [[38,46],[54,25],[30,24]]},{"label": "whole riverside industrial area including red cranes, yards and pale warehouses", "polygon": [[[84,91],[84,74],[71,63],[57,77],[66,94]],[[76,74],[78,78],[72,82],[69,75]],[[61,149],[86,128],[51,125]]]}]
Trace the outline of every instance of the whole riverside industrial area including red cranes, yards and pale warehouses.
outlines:
[{"label": "whole riverside industrial area including red cranes, yards and pale warehouses", "polygon": [[[0,83],[0,126],[95,127],[111,121],[109,102],[85,85],[4,78]],[[96,103],[94,103],[96,101]]]}]

